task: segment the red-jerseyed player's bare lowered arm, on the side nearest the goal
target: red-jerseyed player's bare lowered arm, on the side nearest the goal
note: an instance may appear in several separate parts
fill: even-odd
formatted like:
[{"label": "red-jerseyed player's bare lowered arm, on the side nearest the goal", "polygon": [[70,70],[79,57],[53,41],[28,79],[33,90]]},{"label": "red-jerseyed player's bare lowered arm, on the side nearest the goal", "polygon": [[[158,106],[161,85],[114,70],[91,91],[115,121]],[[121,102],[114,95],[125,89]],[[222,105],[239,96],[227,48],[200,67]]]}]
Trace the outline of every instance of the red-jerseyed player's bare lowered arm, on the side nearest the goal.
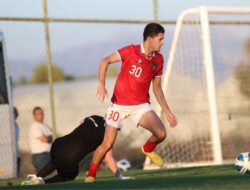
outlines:
[{"label": "red-jerseyed player's bare lowered arm, on the side nearest the goal", "polygon": [[162,91],[161,88],[161,77],[155,77],[153,80],[153,92],[154,95],[158,101],[158,103],[160,104],[160,106],[162,107],[162,110],[164,111],[167,120],[170,123],[170,127],[175,127],[177,125],[177,119],[174,116],[174,114],[171,112],[168,103],[166,101],[166,98],[164,96],[164,93]]}]

